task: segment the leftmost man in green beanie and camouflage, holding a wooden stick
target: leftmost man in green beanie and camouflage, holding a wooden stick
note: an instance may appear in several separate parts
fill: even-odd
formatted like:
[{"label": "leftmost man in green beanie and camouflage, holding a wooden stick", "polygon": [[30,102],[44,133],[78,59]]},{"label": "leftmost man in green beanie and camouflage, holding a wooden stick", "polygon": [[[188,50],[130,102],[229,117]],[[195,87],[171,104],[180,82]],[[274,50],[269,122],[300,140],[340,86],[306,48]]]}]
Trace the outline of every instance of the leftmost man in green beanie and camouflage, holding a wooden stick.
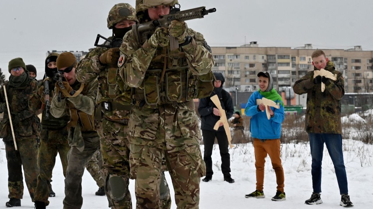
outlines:
[{"label": "leftmost man in green beanie and camouflage, holding a wooden stick", "polygon": [[36,112],[28,107],[28,100],[32,91],[37,89],[37,81],[30,78],[29,72],[22,58],[15,58],[9,62],[9,81],[5,83],[10,116],[16,139],[17,150],[13,142],[12,131],[4,89],[0,91],[0,113],[4,112],[1,121],[0,138],[5,143],[8,165],[8,188],[10,198],[7,207],[21,206],[23,196],[22,166],[25,174],[26,186],[34,202],[39,170],[37,167],[37,137],[40,134],[40,120]]}]

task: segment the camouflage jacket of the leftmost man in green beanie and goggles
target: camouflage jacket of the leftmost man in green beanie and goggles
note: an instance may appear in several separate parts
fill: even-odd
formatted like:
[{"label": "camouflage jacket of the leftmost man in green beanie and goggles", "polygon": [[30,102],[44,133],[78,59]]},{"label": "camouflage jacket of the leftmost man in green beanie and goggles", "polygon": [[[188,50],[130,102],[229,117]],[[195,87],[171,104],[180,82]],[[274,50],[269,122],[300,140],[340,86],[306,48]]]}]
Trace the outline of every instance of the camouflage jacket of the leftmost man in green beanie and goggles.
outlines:
[{"label": "camouflage jacket of the leftmost man in green beanie and goggles", "polygon": [[[30,110],[28,107],[29,97],[32,91],[34,91],[37,88],[37,84],[37,81],[33,79],[30,79],[29,82],[20,87],[10,86],[9,81],[5,83],[6,93],[10,107],[10,114],[12,116],[13,130],[16,140],[18,138],[39,138],[40,119],[37,117],[36,111]],[[1,121],[0,127],[0,137],[3,138],[3,141],[13,141],[3,88],[1,88],[0,91],[0,107],[5,107],[0,108],[0,113],[4,112],[4,117]]]}]

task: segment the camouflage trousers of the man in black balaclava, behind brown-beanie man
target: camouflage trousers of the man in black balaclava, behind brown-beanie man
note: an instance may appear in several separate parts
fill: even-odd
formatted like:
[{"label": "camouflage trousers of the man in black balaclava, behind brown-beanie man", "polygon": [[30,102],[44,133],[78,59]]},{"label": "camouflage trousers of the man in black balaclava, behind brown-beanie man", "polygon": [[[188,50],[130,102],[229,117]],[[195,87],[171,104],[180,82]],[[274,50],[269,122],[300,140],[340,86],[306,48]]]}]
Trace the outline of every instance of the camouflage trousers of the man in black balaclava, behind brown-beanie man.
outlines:
[{"label": "camouflage trousers of the man in black balaclava, behind brown-beanie man", "polygon": [[65,143],[55,144],[41,138],[40,145],[38,149],[38,167],[40,173],[38,176],[38,183],[35,192],[35,200],[41,201],[49,205],[49,184],[50,179],[52,178],[52,170],[54,164],[56,163],[57,153],[60,155],[63,176],[66,177],[66,168],[68,166],[68,152],[70,146],[66,136],[62,136],[57,131],[51,131],[54,133],[55,137],[65,137]]}]

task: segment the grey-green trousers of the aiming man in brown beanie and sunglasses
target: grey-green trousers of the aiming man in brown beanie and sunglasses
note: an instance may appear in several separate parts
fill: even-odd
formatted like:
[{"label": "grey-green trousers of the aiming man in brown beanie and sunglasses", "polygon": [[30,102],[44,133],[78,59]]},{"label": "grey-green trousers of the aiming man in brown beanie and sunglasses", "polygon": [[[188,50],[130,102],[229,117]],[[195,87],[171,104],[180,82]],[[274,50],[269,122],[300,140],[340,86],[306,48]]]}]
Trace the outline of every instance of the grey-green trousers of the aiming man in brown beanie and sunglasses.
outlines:
[{"label": "grey-green trousers of the aiming man in brown beanie and sunglasses", "polygon": [[82,177],[85,165],[94,153],[100,149],[98,136],[84,137],[84,150],[81,152],[76,147],[71,147],[68,153],[68,167],[65,177],[64,209],[80,209],[83,204]]}]

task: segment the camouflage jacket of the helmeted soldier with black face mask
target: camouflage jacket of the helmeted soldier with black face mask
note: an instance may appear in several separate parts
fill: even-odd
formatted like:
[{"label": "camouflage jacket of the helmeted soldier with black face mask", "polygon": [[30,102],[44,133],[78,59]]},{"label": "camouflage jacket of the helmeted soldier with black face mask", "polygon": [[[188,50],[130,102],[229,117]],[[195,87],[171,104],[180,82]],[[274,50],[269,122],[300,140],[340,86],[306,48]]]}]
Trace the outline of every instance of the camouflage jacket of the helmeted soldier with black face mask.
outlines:
[{"label": "camouflage jacket of the helmeted soldier with black face mask", "polygon": [[[110,37],[112,38],[112,37]],[[109,38],[109,39],[110,39]],[[117,85],[118,67],[101,65],[100,55],[109,48],[96,47],[90,51],[85,58],[79,62],[76,68],[76,79],[81,83],[91,82],[97,78],[98,88],[96,104],[103,106],[103,102],[120,103],[125,109],[112,108],[110,111],[103,111],[107,118],[112,120],[128,119],[131,109],[131,88],[125,85]],[[98,109],[101,109],[98,108]]]}]

